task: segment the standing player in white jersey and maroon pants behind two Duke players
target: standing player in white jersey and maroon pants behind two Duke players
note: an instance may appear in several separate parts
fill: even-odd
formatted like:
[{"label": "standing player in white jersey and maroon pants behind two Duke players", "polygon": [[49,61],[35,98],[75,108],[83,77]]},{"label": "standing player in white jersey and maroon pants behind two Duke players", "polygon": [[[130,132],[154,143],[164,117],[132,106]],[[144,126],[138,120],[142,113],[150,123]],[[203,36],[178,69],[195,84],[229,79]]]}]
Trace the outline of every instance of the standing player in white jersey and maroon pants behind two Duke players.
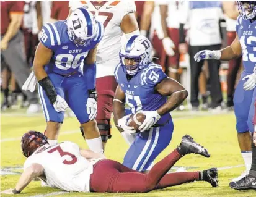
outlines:
[{"label": "standing player in white jersey and maroon pants behind two Duke players", "polygon": [[[115,82],[114,70],[119,64],[119,52],[123,34],[128,39],[133,35],[139,35],[138,23],[135,17],[134,1],[69,1],[72,10],[77,7],[89,9],[95,18],[104,24],[105,31],[100,41],[97,54],[96,88],[98,93],[97,125],[102,136],[102,143],[111,138],[110,118],[112,113],[113,97],[117,82]],[[83,131],[81,129],[83,134]]]}]

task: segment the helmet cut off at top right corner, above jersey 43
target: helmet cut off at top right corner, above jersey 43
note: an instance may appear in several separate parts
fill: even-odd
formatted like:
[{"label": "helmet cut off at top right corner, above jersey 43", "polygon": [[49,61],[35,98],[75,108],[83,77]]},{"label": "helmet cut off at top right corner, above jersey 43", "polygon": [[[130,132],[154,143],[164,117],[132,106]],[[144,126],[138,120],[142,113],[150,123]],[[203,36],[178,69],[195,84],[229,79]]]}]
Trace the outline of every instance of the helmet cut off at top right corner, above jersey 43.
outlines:
[{"label": "helmet cut off at top right corner, above jersey 43", "polygon": [[256,17],[256,1],[237,1],[239,14],[245,20]]}]

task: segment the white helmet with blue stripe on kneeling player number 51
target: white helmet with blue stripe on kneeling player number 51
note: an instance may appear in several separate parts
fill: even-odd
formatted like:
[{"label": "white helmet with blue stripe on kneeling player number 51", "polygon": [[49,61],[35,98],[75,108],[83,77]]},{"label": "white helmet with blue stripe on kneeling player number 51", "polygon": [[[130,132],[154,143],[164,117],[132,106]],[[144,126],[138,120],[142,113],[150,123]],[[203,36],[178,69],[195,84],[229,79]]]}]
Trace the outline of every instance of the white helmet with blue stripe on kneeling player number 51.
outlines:
[{"label": "white helmet with blue stripe on kneeling player number 51", "polygon": [[136,75],[151,61],[152,46],[145,36],[134,35],[123,44],[119,53],[123,71],[128,75]]}]

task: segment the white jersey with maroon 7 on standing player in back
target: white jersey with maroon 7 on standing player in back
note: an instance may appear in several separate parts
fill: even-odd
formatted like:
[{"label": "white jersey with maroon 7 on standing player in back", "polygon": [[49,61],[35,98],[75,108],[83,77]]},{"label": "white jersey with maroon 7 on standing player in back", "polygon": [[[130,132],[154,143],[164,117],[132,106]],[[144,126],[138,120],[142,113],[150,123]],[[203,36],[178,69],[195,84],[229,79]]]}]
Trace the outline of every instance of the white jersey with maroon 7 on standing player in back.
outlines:
[{"label": "white jersey with maroon 7 on standing player in back", "polygon": [[120,62],[121,49],[121,21],[126,14],[136,11],[134,1],[69,1],[71,10],[85,7],[92,12],[96,19],[104,24],[104,36],[97,48],[96,77],[113,76],[117,64]]}]

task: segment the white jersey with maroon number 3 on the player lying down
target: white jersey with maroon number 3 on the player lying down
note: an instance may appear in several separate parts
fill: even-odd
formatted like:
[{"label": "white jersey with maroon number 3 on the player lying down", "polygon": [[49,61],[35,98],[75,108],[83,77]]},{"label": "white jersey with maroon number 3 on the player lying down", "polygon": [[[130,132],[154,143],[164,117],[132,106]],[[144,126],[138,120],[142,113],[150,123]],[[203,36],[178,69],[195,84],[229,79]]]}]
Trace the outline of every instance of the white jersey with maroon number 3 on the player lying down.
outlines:
[{"label": "white jersey with maroon number 3 on the player lying down", "polygon": [[55,146],[44,145],[28,157],[24,169],[32,164],[43,166],[46,183],[66,191],[89,192],[93,164],[80,154],[79,146],[64,141]]}]

